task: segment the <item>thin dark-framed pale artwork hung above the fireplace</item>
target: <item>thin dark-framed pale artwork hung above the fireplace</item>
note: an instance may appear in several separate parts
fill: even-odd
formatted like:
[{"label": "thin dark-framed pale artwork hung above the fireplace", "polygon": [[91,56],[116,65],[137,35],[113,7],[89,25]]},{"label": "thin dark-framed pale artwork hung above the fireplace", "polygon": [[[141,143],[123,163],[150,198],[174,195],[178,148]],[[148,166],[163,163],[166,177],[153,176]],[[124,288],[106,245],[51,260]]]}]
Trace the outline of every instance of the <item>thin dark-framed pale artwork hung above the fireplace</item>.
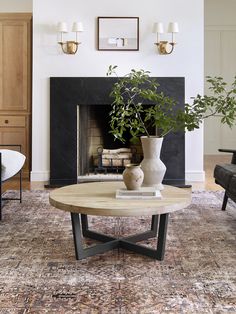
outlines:
[{"label": "thin dark-framed pale artwork hung above the fireplace", "polygon": [[139,50],[139,18],[98,17],[98,50]]}]

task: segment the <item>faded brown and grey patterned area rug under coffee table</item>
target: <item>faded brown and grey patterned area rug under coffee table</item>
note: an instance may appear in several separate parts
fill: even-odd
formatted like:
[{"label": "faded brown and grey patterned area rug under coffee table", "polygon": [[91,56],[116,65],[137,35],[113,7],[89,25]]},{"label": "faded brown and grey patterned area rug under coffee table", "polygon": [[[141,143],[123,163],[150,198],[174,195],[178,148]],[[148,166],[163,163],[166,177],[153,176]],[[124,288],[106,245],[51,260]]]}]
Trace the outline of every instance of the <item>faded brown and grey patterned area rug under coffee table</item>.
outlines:
[{"label": "faded brown and grey patterned area rug under coffee table", "polygon": [[[236,313],[236,205],[222,212],[222,197],[195,192],[170,215],[162,262],[121,249],[76,261],[70,215],[49,205],[47,191],[25,191],[0,222],[0,313]],[[149,222],[90,218],[115,235]]]}]

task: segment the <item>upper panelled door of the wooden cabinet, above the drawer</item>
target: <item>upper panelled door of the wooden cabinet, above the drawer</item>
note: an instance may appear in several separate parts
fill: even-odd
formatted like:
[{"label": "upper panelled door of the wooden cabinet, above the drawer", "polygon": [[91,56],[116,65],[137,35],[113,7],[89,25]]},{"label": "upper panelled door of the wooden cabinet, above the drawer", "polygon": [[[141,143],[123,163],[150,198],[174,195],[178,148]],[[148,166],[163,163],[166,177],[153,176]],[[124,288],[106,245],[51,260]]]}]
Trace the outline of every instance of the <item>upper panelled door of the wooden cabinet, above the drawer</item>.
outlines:
[{"label": "upper panelled door of the wooden cabinet, above the drawer", "polygon": [[29,110],[30,21],[1,20],[0,111]]}]

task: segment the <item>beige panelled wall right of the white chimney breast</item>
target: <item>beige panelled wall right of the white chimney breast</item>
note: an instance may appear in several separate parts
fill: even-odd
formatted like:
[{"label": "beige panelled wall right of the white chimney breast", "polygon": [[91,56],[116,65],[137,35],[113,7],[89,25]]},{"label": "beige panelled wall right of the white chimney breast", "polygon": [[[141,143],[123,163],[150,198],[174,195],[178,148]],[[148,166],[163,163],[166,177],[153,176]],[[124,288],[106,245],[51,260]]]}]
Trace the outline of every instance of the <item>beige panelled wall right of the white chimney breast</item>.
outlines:
[{"label": "beige panelled wall right of the white chimney breast", "polygon": [[[228,84],[236,75],[235,12],[236,0],[205,0],[205,76],[222,76]],[[204,126],[206,155],[222,154],[219,148],[236,147],[236,125],[230,129],[220,118],[211,117]]]}]

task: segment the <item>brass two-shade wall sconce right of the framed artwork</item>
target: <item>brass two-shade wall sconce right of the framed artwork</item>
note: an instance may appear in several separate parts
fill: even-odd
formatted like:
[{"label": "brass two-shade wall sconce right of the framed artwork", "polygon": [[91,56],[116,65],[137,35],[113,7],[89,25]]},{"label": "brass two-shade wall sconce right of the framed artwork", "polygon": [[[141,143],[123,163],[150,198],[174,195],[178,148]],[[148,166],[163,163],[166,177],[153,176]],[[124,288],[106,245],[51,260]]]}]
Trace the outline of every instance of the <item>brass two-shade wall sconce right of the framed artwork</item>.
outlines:
[{"label": "brass two-shade wall sconce right of the framed artwork", "polygon": [[176,45],[176,43],[174,42],[174,33],[178,32],[179,32],[178,23],[171,22],[169,23],[168,26],[168,33],[172,34],[171,42],[160,40],[159,34],[164,33],[163,23],[161,22],[154,23],[153,33],[157,34],[157,42],[155,43],[155,45],[157,45],[157,49],[161,55],[169,55],[173,52],[174,46]]}]

